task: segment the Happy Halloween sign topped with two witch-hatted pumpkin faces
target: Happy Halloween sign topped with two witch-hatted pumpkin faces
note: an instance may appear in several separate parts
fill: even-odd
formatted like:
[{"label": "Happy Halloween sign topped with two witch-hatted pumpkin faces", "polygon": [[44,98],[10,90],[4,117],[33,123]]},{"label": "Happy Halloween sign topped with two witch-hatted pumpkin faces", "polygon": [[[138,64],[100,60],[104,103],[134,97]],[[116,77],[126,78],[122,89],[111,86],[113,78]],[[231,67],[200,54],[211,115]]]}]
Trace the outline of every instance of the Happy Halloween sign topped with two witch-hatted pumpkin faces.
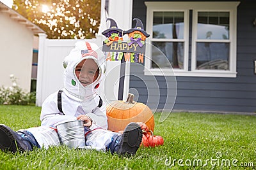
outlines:
[{"label": "Happy Halloween sign topped with two witch-hatted pumpkin faces", "polygon": [[[103,42],[102,51],[105,52],[106,60],[116,61],[124,60],[125,62],[144,62],[145,39],[150,35],[144,31],[140,19],[136,20],[136,26],[124,31],[117,27],[115,20],[108,18],[110,21],[109,29],[102,32],[106,36]],[[123,36],[127,34],[129,39],[124,41]]]}]

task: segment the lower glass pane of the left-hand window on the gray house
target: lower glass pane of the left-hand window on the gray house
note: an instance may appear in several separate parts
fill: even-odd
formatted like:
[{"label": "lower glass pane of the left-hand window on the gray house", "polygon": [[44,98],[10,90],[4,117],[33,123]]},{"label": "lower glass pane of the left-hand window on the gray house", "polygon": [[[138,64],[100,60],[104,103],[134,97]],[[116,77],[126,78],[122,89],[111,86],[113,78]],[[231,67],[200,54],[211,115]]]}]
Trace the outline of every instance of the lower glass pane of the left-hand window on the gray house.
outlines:
[{"label": "lower glass pane of the left-hand window on the gray house", "polygon": [[[183,69],[184,43],[152,42],[152,67],[170,67]],[[156,46],[156,47],[155,47]]]}]

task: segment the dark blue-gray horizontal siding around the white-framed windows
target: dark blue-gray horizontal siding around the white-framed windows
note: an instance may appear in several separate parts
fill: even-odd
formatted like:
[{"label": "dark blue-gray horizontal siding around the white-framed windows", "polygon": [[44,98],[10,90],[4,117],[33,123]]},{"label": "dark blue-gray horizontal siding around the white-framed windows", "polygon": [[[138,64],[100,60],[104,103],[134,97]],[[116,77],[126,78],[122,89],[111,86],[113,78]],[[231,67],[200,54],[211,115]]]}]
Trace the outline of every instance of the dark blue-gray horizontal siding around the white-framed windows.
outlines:
[{"label": "dark blue-gray horizontal siding around the white-framed windows", "polygon": [[[255,6],[256,1],[244,0],[237,8],[237,77],[177,76],[177,98],[173,109],[256,111],[256,74],[253,73],[253,61],[256,60],[256,27],[252,25],[252,20],[256,17]],[[146,11],[144,1],[133,1],[133,17],[140,18],[144,27],[146,27]],[[163,109],[166,103],[165,109],[172,109],[174,87],[172,80],[167,81],[167,86],[163,77],[145,76],[143,69],[143,65],[131,63],[130,89],[138,91],[138,101],[157,109]],[[155,85],[156,81],[158,87]],[[170,93],[167,95],[166,92]]]}]

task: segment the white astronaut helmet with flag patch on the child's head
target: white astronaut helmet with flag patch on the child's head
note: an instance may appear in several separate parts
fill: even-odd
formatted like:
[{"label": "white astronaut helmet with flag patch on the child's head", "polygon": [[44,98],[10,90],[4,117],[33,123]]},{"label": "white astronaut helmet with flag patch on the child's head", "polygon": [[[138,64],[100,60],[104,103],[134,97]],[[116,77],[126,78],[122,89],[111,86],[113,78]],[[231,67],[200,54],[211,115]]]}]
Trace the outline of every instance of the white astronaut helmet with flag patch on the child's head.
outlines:
[{"label": "white astronaut helmet with flag patch on the child's head", "polygon": [[[85,59],[93,59],[99,67],[99,76],[93,83],[84,87],[78,80],[75,70],[76,66]],[[75,48],[65,57],[63,62],[64,91],[68,97],[77,101],[90,101],[97,95],[100,82],[105,73],[104,54],[95,43],[88,41],[77,41]]]}]

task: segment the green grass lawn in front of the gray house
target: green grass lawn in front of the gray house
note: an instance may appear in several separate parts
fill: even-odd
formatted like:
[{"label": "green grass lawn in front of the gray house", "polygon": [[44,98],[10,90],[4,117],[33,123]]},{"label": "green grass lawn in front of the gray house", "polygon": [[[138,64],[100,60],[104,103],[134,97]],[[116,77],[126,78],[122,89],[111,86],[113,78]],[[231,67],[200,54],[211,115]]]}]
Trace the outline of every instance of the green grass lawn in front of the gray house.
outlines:
[{"label": "green grass lawn in front of the gray house", "polygon": [[[38,126],[40,109],[0,106],[0,124],[15,131]],[[140,148],[134,157],[66,146],[15,154],[0,151],[0,169],[256,169],[255,116],[172,113],[161,124],[160,114],[154,116],[154,133],[163,136],[164,145]]]}]

